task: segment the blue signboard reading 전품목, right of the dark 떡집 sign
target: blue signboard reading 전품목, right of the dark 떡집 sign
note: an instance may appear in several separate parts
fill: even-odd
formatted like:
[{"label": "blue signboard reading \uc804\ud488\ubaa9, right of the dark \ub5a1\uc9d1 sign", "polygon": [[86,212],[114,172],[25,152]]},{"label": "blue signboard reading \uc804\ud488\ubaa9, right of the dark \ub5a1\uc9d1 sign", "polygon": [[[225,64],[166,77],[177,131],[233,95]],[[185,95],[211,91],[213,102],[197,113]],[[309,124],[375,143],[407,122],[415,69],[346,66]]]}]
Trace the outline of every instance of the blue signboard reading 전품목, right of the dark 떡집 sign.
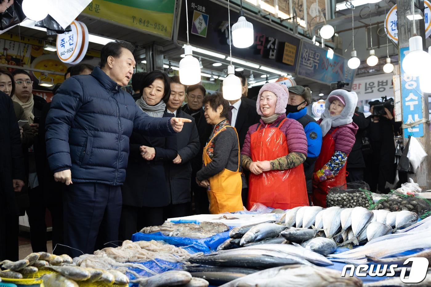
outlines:
[{"label": "blue signboard reading \uc804\ud488\ubaa9, right of the dark \ub5a1\uc9d1 sign", "polygon": [[349,83],[345,88],[351,89],[355,70],[347,66],[347,59],[334,54],[329,59],[328,50],[303,41],[299,59],[298,75],[313,79],[323,84],[337,81]]}]

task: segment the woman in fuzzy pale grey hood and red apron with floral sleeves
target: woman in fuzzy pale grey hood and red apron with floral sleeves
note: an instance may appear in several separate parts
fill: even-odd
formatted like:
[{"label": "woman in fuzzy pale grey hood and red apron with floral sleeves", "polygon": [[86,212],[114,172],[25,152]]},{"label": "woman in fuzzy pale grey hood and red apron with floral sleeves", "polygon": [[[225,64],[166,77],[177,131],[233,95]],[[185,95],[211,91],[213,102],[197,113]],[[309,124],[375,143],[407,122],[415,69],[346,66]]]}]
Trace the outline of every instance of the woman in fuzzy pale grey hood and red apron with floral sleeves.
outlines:
[{"label": "woman in fuzzy pale grey hood and red apron with floral sleeves", "polygon": [[358,96],[347,90],[334,90],[318,121],[322,128],[322,149],[314,165],[313,205],[326,207],[332,187],[346,184],[347,156],[355,143],[358,126],[353,122]]}]

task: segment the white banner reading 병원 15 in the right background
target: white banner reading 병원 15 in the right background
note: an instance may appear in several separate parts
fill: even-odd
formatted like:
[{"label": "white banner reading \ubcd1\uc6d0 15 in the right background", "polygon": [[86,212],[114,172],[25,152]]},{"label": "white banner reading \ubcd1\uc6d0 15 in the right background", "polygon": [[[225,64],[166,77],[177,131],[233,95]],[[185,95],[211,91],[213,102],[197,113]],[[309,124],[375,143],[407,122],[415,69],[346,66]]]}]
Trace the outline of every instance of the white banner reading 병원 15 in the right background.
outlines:
[{"label": "white banner reading \ubcd1\uc6d0 15 in the right background", "polygon": [[372,100],[380,97],[394,97],[392,73],[355,78],[351,87],[360,100]]}]

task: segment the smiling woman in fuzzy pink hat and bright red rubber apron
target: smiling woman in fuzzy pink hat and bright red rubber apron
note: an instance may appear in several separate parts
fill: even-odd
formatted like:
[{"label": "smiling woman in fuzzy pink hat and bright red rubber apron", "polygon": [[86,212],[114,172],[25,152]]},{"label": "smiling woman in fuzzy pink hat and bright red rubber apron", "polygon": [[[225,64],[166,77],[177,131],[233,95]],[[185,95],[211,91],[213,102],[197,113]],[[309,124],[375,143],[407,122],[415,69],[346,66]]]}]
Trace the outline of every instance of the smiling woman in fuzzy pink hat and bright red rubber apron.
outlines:
[{"label": "smiling woman in fuzzy pink hat and bright red rubber apron", "polygon": [[247,209],[254,203],[280,209],[309,205],[302,165],[307,138],[299,122],[286,118],[288,98],[287,87],[277,83],[259,91],[261,120],[249,128],[241,150],[242,165],[250,170]]}]

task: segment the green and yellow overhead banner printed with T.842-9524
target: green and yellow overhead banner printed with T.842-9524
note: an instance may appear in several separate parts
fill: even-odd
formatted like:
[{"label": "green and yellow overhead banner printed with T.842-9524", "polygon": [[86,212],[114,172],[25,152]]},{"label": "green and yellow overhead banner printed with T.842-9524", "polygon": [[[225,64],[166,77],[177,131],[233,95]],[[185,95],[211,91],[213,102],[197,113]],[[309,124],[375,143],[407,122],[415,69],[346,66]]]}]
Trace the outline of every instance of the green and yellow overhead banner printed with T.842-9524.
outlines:
[{"label": "green and yellow overhead banner printed with T.842-9524", "polygon": [[175,0],[93,0],[82,13],[171,39],[174,11]]}]

